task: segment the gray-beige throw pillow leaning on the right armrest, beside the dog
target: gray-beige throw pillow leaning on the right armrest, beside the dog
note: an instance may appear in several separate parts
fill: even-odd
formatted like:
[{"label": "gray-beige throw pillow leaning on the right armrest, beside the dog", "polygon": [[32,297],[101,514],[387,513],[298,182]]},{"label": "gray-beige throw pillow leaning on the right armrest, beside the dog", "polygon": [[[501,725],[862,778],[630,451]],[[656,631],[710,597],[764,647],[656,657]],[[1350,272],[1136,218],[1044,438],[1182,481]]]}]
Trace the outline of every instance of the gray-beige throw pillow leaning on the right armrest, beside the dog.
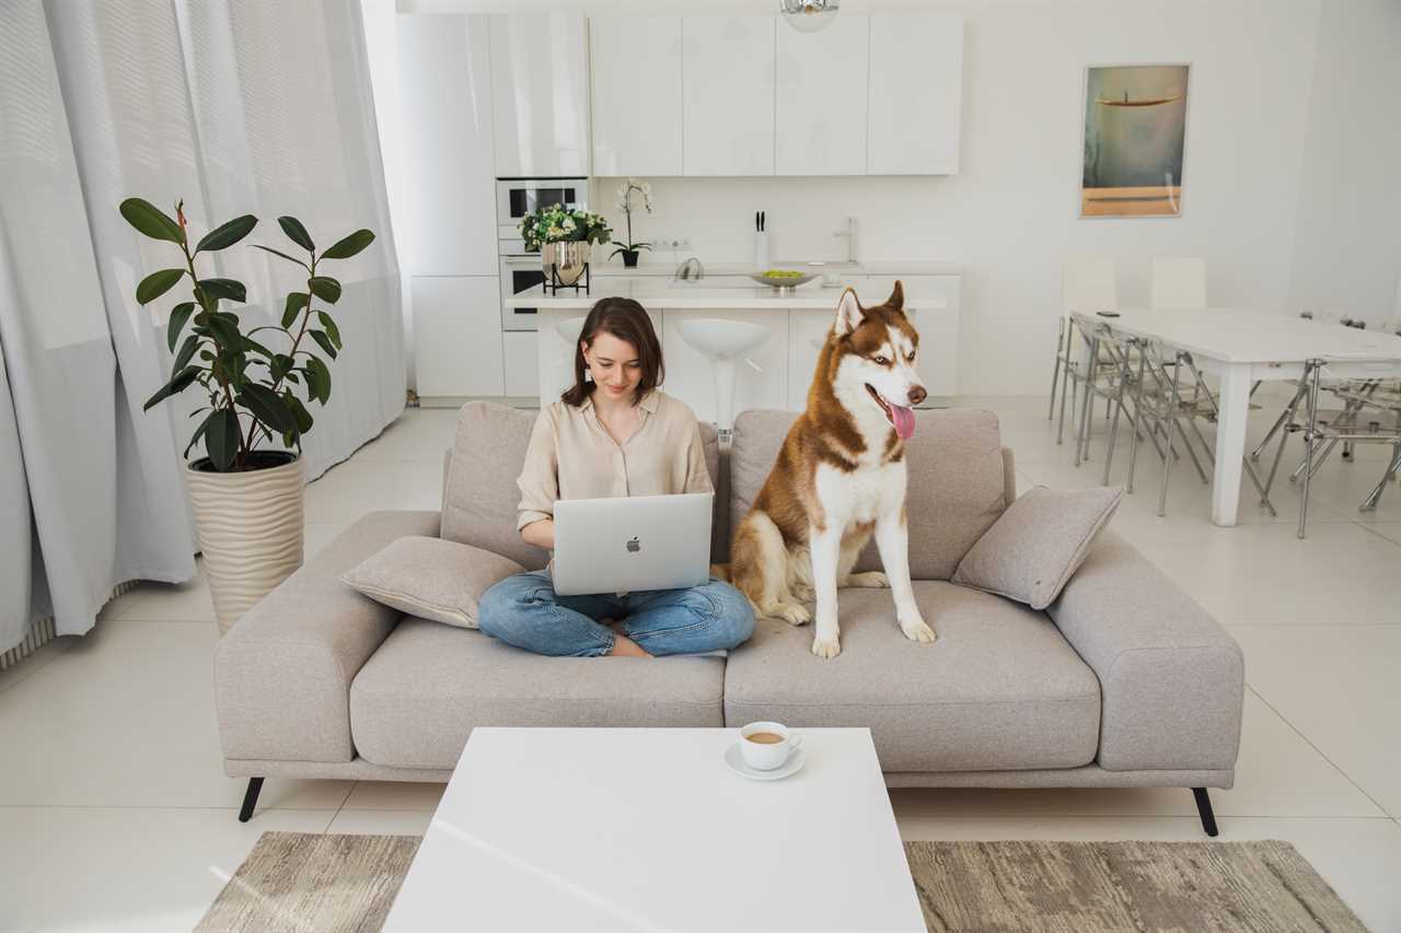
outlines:
[{"label": "gray-beige throw pillow leaning on the right armrest, beside the dog", "polygon": [[1017,499],[978,539],[953,583],[1026,602],[1051,605],[1110,523],[1122,486],[1058,492],[1037,488]]}]

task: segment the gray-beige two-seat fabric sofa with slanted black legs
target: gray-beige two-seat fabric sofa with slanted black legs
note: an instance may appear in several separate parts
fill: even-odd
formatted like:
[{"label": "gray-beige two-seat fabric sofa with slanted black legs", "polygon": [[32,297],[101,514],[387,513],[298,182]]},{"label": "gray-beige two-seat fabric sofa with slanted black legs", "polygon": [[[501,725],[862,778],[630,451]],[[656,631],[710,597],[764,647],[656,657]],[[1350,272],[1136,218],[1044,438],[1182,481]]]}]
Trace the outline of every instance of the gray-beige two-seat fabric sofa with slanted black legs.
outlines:
[{"label": "gray-beige two-seat fabric sofa with slanted black legs", "polygon": [[[792,422],[745,412],[722,451],[713,558],[750,507]],[[471,403],[441,511],[364,516],[254,607],[214,663],[224,769],[249,778],[446,782],[474,726],[716,727],[773,719],[867,726],[890,786],[1230,787],[1244,672],[1236,642],[1107,530],[1045,612],[948,583],[1016,497],[991,412],[918,415],[908,450],[915,594],[939,633],[908,642],[888,590],[841,594],[842,654],[811,626],[759,619],[719,657],[539,657],[402,616],[340,574],[402,535],[440,535],[541,567],[516,532],[516,476],[534,413]],[[874,552],[863,563],[878,567]]]}]

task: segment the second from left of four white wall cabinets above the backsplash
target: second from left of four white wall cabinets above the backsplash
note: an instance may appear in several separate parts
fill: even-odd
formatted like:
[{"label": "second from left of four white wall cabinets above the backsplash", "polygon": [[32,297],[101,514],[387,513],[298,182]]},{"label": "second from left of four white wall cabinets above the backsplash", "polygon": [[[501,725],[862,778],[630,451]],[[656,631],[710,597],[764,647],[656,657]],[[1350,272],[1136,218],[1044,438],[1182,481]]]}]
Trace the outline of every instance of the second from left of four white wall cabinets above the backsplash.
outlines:
[{"label": "second from left of four white wall cabinets above the backsplash", "polygon": [[773,17],[685,17],[686,175],[773,174]]}]

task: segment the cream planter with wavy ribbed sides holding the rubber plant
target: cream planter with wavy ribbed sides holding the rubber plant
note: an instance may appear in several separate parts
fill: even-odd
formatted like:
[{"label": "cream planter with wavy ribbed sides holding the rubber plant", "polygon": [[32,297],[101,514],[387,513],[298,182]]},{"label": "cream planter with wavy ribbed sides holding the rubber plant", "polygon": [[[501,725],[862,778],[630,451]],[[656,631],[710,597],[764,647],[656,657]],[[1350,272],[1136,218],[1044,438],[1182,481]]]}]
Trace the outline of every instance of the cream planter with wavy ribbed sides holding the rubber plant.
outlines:
[{"label": "cream planter with wavy ribbed sides holding the rubber plant", "polygon": [[238,474],[186,468],[185,476],[223,635],[301,566],[301,459]]}]

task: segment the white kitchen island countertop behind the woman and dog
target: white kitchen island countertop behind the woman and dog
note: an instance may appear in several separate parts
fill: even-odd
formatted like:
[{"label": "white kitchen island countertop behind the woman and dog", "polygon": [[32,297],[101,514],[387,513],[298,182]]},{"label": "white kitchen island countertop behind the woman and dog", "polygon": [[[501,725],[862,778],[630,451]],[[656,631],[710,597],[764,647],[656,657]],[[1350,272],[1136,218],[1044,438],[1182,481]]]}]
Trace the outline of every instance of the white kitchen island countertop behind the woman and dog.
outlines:
[{"label": "white kitchen island countertop behind the woman and dog", "polygon": [[[705,284],[664,284],[658,282],[619,280],[616,284],[594,279],[593,294],[576,293],[573,289],[560,290],[559,294],[545,294],[544,286],[523,291],[506,300],[509,308],[539,308],[544,311],[587,311],[600,298],[619,297],[632,298],[646,308],[663,310],[780,310],[780,308],[808,308],[808,310],[836,310],[836,303],[842,297],[841,289],[824,289],[818,282],[810,282],[789,293],[768,286],[754,286],[752,289],[733,287],[716,289]],[[934,296],[909,294],[905,296],[905,307],[913,310],[946,308],[948,303]]]}]

